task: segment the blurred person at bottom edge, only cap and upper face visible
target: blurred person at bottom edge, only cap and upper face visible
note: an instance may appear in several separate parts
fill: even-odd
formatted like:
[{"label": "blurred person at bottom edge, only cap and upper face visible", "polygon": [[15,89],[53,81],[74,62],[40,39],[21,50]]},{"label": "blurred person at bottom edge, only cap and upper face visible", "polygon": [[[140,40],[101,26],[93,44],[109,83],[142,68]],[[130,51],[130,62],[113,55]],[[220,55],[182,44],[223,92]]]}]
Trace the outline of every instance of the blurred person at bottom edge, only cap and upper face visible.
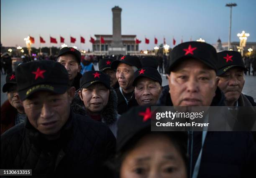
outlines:
[{"label": "blurred person at bottom edge, only cap and upper face visible", "polygon": [[133,107],[118,121],[113,168],[120,178],[187,177],[187,134],[151,132],[149,107]]}]

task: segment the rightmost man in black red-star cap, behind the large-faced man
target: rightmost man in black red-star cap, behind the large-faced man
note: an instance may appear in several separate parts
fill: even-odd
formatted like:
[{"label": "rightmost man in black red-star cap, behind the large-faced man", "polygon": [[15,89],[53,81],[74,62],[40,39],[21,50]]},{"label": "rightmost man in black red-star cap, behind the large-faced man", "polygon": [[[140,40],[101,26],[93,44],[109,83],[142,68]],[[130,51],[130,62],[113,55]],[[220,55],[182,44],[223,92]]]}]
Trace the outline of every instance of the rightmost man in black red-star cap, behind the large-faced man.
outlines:
[{"label": "rightmost man in black red-star cap, behind the large-faced man", "polygon": [[227,106],[256,106],[253,97],[242,94],[245,83],[243,73],[248,71],[238,51],[222,51],[217,53],[219,88],[225,94]]}]

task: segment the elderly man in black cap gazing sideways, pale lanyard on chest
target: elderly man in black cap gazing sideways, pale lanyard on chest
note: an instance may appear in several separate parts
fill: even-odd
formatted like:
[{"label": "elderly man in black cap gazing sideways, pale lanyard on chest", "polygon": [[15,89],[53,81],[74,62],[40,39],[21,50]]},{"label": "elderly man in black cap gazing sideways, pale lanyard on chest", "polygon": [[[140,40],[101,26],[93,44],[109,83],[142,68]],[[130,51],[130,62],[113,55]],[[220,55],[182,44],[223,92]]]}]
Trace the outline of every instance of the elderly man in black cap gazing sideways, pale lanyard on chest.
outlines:
[{"label": "elderly man in black cap gazing sideways, pale lanyard on chest", "polygon": [[115,90],[118,95],[118,114],[138,105],[134,97],[133,76],[139,68],[141,62],[137,56],[126,55],[111,64],[111,69],[116,70],[116,78],[120,86]]}]

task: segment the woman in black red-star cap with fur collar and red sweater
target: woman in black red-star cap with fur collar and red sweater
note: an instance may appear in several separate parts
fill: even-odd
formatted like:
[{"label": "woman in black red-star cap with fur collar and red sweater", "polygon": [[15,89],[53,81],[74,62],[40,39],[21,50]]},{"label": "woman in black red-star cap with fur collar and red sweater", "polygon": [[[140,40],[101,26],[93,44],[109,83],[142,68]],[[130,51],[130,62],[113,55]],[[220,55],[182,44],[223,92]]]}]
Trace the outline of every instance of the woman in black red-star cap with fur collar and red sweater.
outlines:
[{"label": "woman in black red-star cap with fur collar and red sweater", "polygon": [[92,119],[104,122],[116,137],[117,95],[110,87],[110,76],[101,71],[87,71],[80,79],[80,89],[72,103],[74,112],[89,115]]}]

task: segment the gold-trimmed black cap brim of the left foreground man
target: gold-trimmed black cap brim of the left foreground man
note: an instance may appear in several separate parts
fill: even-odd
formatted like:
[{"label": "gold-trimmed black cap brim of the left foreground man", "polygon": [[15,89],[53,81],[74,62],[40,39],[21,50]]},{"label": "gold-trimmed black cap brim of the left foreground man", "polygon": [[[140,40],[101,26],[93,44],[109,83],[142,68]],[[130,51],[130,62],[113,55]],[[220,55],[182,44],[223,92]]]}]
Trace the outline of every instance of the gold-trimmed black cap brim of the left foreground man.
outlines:
[{"label": "gold-trimmed black cap brim of the left foreground man", "polygon": [[23,101],[31,96],[33,93],[38,91],[47,91],[53,92],[55,94],[64,94],[68,89],[68,85],[60,85],[60,84],[39,84],[32,86],[27,89],[23,89],[18,91],[20,100]]}]

